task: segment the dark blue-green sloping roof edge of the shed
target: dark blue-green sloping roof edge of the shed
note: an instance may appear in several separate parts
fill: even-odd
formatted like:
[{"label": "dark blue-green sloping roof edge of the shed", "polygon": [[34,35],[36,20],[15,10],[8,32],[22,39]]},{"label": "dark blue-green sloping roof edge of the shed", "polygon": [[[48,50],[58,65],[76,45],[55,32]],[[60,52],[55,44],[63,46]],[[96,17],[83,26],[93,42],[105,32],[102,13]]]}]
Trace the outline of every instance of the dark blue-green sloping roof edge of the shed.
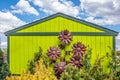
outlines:
[{"label": "dark blue-green sloping roof edge of the shed", "polygon": [[36,21],[31,22],[31,23],[25,24],[25,25],[23,25],[23,26],[20,26],[20,27],[18,27],[18,28],[13,29],[13,30],[7,31],[7,32],[5,32],[5,35],[6,35],[6,36],[9,36],[9,35],[11,35],[11,34],[15,34],[15,33],[16,33],[17,31],[19,31],[19,30],[22,30],[22,29],[31,27],[31,26],[33,26],[33,25],[36,25],[36,24],[38,24],[38,23],[42,23],[42,22],[44,22],[44,21],[46,21],[46,20],[50,20],[50,19],[53,19],[53,18],[58,17],[58,16],[61,16],[61,17],[64,17],[64,18],[67,18],[67,19],[70,19],[70,20],[73,20],[73,21],[76,21],[76,22],[79,22],[79,23],[82,23],[82,24],[85,24],[85,25],[94,27],[94,28],[97,28],[97,29],[100,29],[100,30],[103,30],[103,31],[105,31],[106,33],[112,34],[113,36],[116,36],[116,35],[118,34],[118,32],[116,32],[116,31],[113,31],[113,30],[107,29],[107,28],[105,28],[105,27],[99,26],[99,25],[97,25],[97,24],[93,24],[93,23],[91,23],[91,22],[87,22],[87,21],[85,21],[85,20],[81,20],[81,19],[78,19],[78,18],[75,18],[75,17],[72,17],[72,16],[69,16],[69,15],[66,15],[66,14],[63,14],[63,13],[60,13],[60,12],[59,12],[59,13],[53,14],[53,15],[51,15],[51,16],[45,17],[45,18],[43,18],[43,19],[36,20]]}]

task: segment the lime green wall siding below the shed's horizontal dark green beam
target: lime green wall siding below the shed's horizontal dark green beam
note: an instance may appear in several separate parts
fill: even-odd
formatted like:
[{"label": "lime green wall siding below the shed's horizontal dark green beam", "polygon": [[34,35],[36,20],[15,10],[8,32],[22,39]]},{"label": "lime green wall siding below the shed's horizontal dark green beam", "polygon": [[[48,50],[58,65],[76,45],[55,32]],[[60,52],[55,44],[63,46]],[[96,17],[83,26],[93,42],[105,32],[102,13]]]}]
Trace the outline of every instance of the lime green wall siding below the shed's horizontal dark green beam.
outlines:
[{"label": "lime green wall siding below the shed's horizontal dark green beam", "polygon": [[[92,48],[92,60],[94,63],[98,54],[103,56],[110,52],[108,46],[113,47],[112,36],[73,36],[70,47],[75,42],[82,42]],[[34,53],[43,49],[45,54],[50,46],[58,46],[58,36],[10,36],[10,70],[13,74],[21,73],[27,68],[28,60],[32,59]],[[103,64],[106,65],[106,62]]]}]

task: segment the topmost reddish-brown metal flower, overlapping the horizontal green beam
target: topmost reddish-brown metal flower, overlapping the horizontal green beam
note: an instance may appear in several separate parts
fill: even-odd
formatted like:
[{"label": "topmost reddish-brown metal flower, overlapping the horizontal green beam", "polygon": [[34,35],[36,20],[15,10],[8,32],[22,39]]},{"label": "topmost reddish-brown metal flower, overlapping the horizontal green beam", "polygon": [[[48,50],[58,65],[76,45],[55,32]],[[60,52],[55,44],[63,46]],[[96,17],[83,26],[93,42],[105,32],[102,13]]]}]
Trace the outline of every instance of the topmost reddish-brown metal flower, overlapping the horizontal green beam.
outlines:
[{"label": "topmost reddish-brown metal flower, overlapping the horizontal green beam", "polygon": [[69,44],[72,40],[71,33],[68,30],[61,31],[58,38],[62,44]]}]

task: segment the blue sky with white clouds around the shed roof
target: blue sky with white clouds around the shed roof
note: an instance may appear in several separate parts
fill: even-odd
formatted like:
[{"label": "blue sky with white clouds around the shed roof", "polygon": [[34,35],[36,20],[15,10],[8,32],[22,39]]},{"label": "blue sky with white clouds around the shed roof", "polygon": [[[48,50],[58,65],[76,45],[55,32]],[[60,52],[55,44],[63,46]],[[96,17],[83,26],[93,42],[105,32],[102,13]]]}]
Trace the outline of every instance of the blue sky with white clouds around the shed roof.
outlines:
[{"label": "blue sky with white clouds around the shed roof", "polygon": [[[6,47],[4,32],[62,12],[120,32],[120,0],[0,0],[0,38]],[[120,50],[120,34],[116,37]]]}]

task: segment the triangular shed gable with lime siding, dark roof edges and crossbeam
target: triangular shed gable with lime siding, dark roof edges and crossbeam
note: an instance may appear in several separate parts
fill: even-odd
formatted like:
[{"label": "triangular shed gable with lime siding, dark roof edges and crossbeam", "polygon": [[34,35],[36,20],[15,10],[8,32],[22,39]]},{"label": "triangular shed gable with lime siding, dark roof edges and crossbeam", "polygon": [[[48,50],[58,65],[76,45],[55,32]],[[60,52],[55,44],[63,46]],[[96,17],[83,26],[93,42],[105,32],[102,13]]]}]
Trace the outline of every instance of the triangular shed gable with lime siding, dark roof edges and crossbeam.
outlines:
[{"label": "triangular shed gable with lime siding, dark roof edges and crossbeam", "polygon": [[5,35],[55,35],[65,29],[68,29],[75,35],[116,36],[118,34],[117,32],[102,26],[80,20],[63,13],[56,13],[16,29],[7,31],[5,32]]}]

